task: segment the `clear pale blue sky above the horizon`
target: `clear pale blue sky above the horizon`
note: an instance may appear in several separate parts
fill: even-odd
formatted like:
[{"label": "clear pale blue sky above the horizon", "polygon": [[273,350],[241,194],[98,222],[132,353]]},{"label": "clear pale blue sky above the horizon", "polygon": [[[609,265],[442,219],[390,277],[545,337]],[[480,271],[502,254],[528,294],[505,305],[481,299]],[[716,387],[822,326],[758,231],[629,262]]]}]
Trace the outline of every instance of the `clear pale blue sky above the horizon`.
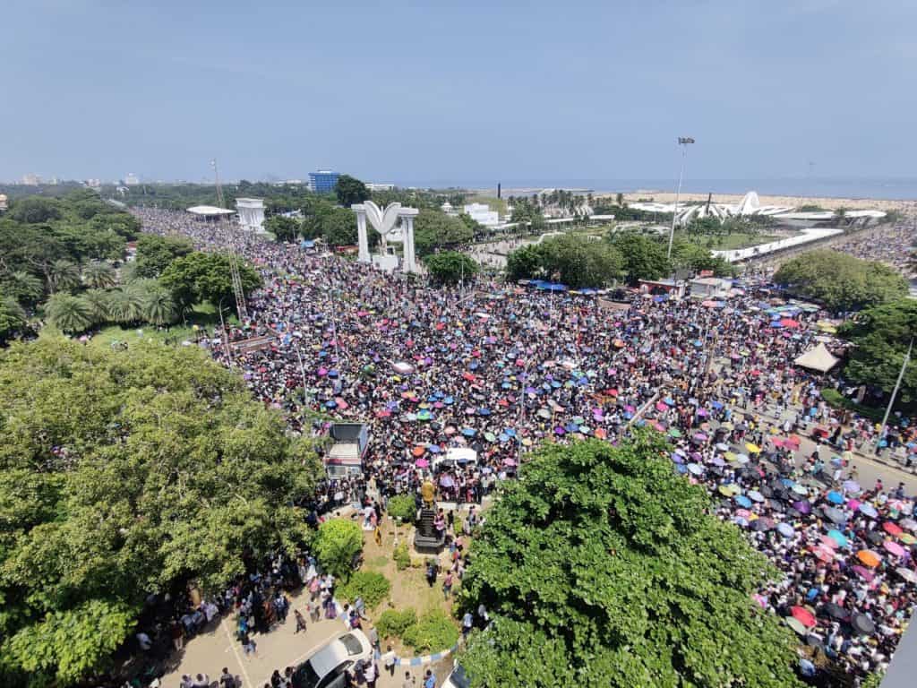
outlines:
[{"label": "clear pale blue sky above the horizon", "polygon": [[917,176],[913,0],[5,0],[0,179]]}]

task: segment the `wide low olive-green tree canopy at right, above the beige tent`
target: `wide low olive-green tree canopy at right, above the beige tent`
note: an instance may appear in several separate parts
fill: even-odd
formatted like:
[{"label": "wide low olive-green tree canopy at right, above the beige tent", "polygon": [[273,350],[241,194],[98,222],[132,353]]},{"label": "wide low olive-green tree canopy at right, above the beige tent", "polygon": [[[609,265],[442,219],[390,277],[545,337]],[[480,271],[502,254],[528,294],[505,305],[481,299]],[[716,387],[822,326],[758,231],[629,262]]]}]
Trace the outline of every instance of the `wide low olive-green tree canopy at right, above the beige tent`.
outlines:
[{"label": "wide low olive-green tree canopy at right, above the beige tent", "polygon": [[888,265],[827,249],[806,251],[783,263],[774,273],[774,282],[835,313],[888,303],[908,294],[907,280]]}]

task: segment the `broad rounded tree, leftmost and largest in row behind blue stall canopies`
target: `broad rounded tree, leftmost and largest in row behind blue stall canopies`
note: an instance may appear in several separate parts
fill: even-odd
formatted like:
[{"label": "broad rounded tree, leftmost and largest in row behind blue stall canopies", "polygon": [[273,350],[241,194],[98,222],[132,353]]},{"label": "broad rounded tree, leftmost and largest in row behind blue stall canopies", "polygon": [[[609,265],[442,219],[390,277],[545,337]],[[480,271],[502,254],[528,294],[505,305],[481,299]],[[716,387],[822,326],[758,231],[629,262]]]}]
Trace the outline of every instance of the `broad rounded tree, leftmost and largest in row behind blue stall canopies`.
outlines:
[{"label": "broad rounded tree, leftmost and largest in row behind blue stall canopies", "polygon": [[558,279],[573,288],[602,287],[621,272],[621,254],[608,242],[561,235],[510,253],[506,274],[510,280]]}]

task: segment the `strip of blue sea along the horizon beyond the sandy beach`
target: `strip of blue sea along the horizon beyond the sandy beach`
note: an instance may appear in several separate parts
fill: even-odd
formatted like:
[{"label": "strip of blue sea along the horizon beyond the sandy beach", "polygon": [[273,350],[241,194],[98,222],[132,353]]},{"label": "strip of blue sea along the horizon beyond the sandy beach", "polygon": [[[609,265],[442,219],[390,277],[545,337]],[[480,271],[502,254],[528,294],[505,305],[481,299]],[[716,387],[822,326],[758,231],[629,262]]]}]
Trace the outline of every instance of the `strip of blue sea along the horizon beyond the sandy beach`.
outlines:
[{"label": "strip of blue sea along the horizon beyond the sandy beach", "polygon": [[[636,191],[674,192],[675,179],[497,179],[497,180],[414,180],[399,186],[422,188],[492,189],[503,185],[503,195],[548,188],[574,189],[583,192],[628,194]],[[883,200],[917,200],[917,178],[842,179],[821,177],[787,177],[783,179],[686,179],[681,183],[686,194],[745,194],[812,196],[818,198],[866,198]]]}]

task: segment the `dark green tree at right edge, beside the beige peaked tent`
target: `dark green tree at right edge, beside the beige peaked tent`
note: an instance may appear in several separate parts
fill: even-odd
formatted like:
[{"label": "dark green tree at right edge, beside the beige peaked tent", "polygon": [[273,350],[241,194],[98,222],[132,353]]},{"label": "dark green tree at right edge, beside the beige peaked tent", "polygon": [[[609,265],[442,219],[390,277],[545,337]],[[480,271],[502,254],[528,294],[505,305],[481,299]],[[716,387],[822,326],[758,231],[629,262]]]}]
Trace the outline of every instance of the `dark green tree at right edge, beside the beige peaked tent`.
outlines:
[{"label": "dark green tree at right edge, beside the beige peaked tent", "polygon": [[[911,338],[917,338],[917,301],[906,299],[867,308],[845,322],[838,334],[854,344],[845,377],[891,394]],[[911,357],[898,397],[905,404],[917,401],[917,349]]]}]

